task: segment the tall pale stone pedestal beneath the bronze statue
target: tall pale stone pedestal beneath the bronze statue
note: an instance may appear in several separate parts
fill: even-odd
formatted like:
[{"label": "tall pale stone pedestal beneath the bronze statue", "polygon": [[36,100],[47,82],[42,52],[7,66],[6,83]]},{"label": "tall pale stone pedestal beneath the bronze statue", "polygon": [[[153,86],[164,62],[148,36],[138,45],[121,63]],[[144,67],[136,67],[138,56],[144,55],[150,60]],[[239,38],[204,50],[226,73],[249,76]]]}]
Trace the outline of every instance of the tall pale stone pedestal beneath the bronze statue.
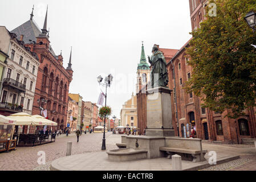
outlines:
[{"label": "tall pale stone pedestal beneath the bronze statue", "polygon": [[147,90],[147,136],[174,136],[172,123],[172,90],[158,87]]}]

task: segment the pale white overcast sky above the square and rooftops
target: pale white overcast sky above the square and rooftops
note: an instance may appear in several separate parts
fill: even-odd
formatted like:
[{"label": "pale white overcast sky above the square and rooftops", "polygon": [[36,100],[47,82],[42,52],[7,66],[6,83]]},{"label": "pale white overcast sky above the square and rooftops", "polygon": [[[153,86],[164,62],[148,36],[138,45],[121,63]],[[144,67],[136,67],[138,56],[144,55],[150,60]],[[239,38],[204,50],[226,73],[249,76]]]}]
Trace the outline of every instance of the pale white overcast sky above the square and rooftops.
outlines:
[{"label": "pale white overcast sky above the square and rooftops", "polygon": [[111,73],[107,105],[117,118],[124,102],[136,92],[141,41],[147,57],[154,44],[180,49],[191,38],[188,0],[1,0],[0,25],[11,31],[25,23],[33,5],[40,28],[48,5],[51,46],[56,55],[62,50],[65,68],[72,46],[74,75],[69,92],[79,93],[83,101],[97,102],[97,76]]}]

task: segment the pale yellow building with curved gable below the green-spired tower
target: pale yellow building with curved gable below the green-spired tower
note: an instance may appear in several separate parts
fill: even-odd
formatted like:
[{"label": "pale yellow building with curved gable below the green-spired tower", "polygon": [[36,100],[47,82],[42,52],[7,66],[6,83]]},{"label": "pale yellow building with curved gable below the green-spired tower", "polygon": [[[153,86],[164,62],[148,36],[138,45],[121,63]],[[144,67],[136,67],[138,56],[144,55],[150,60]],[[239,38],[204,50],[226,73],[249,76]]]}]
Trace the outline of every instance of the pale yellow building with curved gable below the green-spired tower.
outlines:
[{"label": "pale yellow building with curved gable below the green-spired tower", "polygon": [[131,128],[137,127],[137,97],[133,95],[132,98],[125,102],[120,112],[121,126],[128,126]]}]

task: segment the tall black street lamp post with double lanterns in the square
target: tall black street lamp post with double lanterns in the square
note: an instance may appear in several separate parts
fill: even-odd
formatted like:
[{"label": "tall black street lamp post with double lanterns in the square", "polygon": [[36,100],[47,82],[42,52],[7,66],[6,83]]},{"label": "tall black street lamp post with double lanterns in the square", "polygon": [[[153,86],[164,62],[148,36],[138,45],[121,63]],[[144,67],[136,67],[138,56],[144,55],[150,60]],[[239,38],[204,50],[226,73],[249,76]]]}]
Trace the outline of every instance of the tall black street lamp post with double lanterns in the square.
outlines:
[{"label": "tall black street lamp post with double lanterns in the square", "polygon": [[[109,74],[107,77],[105,77],[105,83],[101,84],[103,78],[101,76],[97,77],[97,81],[99,82],[100,85],[103,85],[106,87],[106,91],[105,91],[105,107],[107,106],[107,88],[108,86],[110,87],[110,85],[112,84],[112,80],[113,80],[113,76],[111,74]],[[104,115],[104,131],[103,131],[103,139],[102,139],[102,147],[101,150],[106,150],[106,146],[105,146],[105,123],[106,123],[106,115]]]}]

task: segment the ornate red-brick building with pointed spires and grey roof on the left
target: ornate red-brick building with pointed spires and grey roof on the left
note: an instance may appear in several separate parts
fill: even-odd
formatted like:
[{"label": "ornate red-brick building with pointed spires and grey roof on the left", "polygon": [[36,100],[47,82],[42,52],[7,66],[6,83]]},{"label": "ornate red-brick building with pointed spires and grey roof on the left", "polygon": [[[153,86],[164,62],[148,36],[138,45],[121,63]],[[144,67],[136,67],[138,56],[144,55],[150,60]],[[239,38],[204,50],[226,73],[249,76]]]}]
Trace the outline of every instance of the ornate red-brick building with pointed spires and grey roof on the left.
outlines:
[{"label": "ornate red-brick building with pointed spires and grey roof on the left", "polygon": [[[33,9],[34,10],[34,9]],[[33,20],[33,10],[30,19],[15,28],[13,33],[23,36],[23,42],[39,57],[39,68],[36,89],[32,107],[32,115],[40,114],[39,106],[47,109],[47,117],[58,123],[57,129],[64,129],[67,124],[68,89],[72,81],[71,53],[68,67],[63,67],[62,53],[55,55],[50,45],[47,31],[47,11],[42,31]]]}]

